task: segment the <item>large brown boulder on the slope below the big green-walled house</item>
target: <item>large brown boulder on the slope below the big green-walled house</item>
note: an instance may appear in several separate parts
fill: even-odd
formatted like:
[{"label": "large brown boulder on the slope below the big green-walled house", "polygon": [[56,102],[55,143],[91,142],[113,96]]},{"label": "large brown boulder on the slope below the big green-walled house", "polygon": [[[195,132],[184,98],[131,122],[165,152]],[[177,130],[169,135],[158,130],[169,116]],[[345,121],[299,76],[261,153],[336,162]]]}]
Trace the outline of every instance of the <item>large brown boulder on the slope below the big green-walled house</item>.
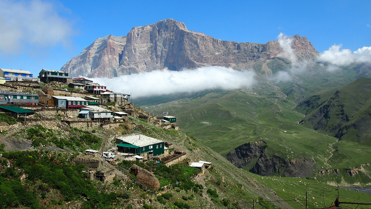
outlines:
[{"label": "large brown boulder on the slope below the big green-walled house", "polygon": [[141,167],[134,164],[130,168],[130,173],[137,177],[139,183],[142,185],[157,191],[160,189],[160,182],[156,176],[148,170],[142,169]]}]

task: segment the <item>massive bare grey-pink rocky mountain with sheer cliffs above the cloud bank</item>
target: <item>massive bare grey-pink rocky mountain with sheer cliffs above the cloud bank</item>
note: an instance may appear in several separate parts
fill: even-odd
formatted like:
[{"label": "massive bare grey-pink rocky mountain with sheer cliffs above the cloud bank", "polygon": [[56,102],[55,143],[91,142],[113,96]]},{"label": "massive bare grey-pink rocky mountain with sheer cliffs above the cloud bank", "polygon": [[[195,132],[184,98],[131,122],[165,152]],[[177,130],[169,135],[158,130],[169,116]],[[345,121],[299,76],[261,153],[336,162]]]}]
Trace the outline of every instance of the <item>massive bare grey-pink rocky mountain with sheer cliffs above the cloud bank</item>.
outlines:
[{"label": "massive bare grey-pink rocky mountain with sheer cliffs above the cloud bank", "polygon": [[[299,59],[318,55],[306,37],[290,37],[291,47]],[[269,73],[272,59],[285,61],[278,41],[238,43],[215,39],[190,31],[173,19],[132,28],[126,36],[96,39],[80,55],[68,61],[61,71],[72,76],[116,77],[138,72],[169,69],[178,71],[201,66],[226,66],[234,69],[254,68]]]}]

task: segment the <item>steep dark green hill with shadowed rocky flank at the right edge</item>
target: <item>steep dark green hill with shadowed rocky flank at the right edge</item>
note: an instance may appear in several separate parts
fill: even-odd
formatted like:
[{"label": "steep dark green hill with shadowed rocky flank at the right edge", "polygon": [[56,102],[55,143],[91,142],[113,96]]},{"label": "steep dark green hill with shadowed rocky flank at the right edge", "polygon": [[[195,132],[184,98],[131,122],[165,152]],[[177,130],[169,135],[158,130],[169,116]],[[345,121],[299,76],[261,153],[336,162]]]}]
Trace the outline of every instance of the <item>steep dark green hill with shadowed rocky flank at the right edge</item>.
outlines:
[{"label": "steep dark green hill with shadowed rocky flank at the right edge", "polygon": [[[312,104],[313,97],[303,103]],[[319,104],[316,102],[315,104]],[[310,108],[313,108],[310,111]],[[298,108],[309,112],[302,123],[340,140],[352,140],[370,146],[371,79],[359,78],[338,89],[321,105],[302,105]]]}]

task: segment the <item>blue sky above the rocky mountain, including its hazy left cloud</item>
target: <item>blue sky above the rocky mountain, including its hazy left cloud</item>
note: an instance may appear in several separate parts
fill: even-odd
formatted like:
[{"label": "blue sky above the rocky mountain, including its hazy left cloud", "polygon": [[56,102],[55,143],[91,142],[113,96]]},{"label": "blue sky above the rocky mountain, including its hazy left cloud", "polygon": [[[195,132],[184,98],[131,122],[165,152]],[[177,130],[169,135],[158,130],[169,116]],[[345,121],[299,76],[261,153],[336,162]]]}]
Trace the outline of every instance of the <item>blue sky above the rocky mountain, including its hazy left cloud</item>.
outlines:
[{"label": "blue sky above the rocky mountain, including its hazy left cloud", "polygon": [[59,70],[98,37],[172,18],[221,40],[306,36],[324,52],[371,46],[371,1],[0,0],[0,68]]}]

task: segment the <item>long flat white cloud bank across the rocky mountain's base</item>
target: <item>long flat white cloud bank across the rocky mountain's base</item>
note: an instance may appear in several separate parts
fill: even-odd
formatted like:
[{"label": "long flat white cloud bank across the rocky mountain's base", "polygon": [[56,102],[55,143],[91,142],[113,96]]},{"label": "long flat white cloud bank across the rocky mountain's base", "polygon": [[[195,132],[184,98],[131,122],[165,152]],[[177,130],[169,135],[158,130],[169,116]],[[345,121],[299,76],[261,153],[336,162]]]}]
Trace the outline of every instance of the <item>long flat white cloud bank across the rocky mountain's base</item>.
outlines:
[{"label": "long flat white cloud bank across the rocky mountain's base", "polygon": [[163,95],[179,92],[197,92],[205,89],[239,89],[256,83],[252,70],[208,66],[183,71],[151,71],[123,75],[117,78],[93,78],[115,92],[134,97]]}]

